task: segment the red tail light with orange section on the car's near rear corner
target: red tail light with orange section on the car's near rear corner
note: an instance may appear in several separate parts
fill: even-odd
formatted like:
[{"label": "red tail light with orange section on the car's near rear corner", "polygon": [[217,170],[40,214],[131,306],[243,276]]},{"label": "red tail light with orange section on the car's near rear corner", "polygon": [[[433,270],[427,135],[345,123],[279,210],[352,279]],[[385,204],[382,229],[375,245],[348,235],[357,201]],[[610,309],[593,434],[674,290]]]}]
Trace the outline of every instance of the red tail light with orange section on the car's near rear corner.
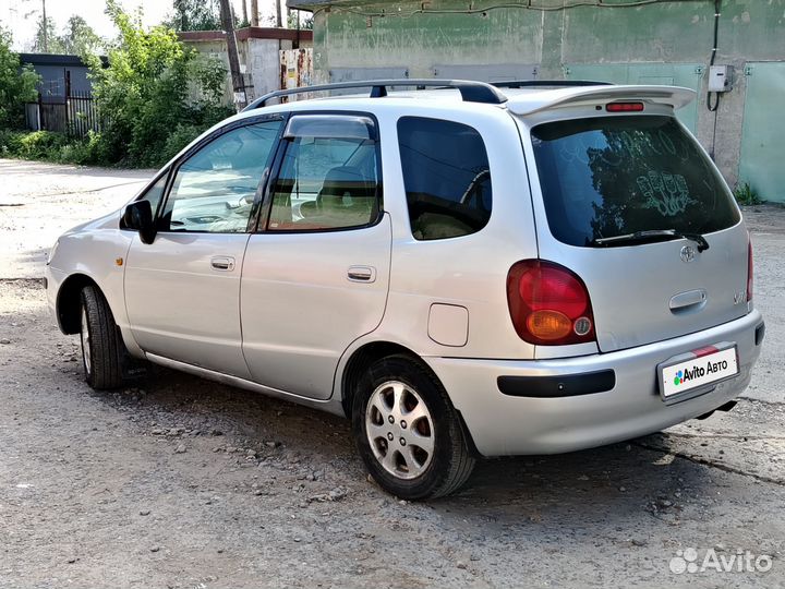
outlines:
[{"label": "red tail light with orange section on the car's near rear corner", "polygon": [[571,271],[542,260],[524,260],[507,275],[507,303],[521,339],[540,346],[594,341],[589,291]]}]

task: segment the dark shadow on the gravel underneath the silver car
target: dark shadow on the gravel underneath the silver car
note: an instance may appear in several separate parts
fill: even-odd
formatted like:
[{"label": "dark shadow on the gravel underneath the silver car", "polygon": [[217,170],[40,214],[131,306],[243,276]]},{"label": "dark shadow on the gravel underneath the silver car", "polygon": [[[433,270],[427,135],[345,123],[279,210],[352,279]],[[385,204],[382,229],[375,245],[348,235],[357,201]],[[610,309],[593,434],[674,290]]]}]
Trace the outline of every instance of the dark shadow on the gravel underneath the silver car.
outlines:
[{"label": "dark shadow on the gravel underneath the silver car", "polygon": [[[315,465],[337,459],[343,465],[342,484],[388,496],[366,481],[349,422],[337,416],[158,366],[124,390],[95,395],[137,412],[146,428],[184,424],[203,434],[217,429],[241,447],[274,441]],[[654,434],[570,454],[481,459],[462,489],[431,505],[445,515],[474,513],[530,525],[565,518],[621,521],[644,509],[656,527],[678,521],[685,502],[711,501],[714,489],[706,466],[676,458],[667,438]]]}]

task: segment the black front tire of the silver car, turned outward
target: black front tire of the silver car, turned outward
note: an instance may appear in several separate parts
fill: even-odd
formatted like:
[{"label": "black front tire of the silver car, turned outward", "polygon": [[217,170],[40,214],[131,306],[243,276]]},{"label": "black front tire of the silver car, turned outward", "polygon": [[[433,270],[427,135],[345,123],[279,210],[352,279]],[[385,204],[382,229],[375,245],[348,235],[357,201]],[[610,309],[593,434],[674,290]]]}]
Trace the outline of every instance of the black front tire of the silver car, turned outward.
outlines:
[{"label": "black front tire of the silver car, turned outward", "polygon": [[80,324],[85,381],[96,390],[121,386],[124,346],[111,309],[97,287],[82,289]]}]

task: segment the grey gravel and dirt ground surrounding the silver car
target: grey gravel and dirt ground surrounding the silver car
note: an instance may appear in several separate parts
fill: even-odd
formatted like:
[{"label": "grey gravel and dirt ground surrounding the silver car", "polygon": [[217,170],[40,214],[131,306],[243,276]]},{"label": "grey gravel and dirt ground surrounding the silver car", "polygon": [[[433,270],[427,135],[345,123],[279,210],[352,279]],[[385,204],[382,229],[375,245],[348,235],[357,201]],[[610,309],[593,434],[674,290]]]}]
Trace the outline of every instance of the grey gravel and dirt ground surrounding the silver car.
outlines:
[{"label": "grey gravel and dirt ground surrounding the silver car", "polygon": [[[155,368],[92,392],[40,252],[149,172],[0,170],[16,175],[0,193],[0,588],[785,587],[785,209],[746,211],[768,339],[736,409],[484,460],[413,504],[366,480],[341,419]],[[673,573],[689,549],[771,568]]]}]

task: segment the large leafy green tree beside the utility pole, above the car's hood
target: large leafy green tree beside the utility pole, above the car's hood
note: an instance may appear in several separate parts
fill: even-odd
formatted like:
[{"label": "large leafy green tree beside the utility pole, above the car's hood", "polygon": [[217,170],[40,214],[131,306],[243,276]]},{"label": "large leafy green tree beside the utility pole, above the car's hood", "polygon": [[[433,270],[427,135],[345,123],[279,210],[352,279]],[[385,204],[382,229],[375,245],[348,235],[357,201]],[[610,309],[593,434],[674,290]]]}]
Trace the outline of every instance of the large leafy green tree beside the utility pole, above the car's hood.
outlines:
[{"label": "large leafy green tree beside the utility pole, above the car's hood", "polygon": [[226,69],[202,58],[165,26],[145,29],[117,0],[107,14],[120,29],[109,47],[109,65],[89,56],[96,106],[101,117],[101,158],[158,166],[204,129],[232,111],[221,104]]}]

